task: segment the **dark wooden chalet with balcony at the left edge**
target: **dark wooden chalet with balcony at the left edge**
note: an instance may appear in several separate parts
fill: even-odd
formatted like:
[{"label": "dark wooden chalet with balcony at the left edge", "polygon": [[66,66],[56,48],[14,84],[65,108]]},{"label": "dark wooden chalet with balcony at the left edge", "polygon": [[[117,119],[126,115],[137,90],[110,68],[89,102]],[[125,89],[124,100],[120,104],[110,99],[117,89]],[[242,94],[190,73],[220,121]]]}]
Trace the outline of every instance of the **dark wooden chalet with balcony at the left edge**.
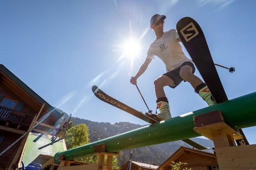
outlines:
[{"label": "dark wooden chalet with balcony at the left edge", "polygon": [[62,115],[1,64],[0,170],[17,168],[27,132],[50,134]]}]

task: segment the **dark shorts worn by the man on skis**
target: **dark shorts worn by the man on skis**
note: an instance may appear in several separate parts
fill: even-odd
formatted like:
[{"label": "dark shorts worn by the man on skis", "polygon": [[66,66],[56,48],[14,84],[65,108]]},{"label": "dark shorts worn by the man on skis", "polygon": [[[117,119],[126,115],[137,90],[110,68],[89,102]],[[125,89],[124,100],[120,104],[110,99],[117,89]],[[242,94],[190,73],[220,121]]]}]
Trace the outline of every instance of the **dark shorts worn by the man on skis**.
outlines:
[{"label": "dark shorts worn by the man on skis", "polygon": [[192,73],[194,74],[195,72],[195,66],[192,62],[186,61],[183,62],[182,65],[179,68],[176,68],[172,71],[169,71],[163,75],[168,76],[169,78],[171,78],[174,81],[174,85],[169,85],[172,88],[177,87],[182,81],[185,82],[185,80],[182,79],[182,77],[180,76],[180,69],[182,66],[190,66],[192,67]]}]

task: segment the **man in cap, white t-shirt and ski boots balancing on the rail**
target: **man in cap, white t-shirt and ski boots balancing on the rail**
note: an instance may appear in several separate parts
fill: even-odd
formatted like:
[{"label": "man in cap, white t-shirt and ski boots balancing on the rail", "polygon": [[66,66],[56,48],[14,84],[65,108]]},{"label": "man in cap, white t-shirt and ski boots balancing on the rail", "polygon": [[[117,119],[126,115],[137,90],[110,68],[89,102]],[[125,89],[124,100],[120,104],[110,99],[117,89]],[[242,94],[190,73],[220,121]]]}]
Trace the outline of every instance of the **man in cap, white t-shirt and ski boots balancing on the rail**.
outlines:
[{"label": "man in cap, white t-shirt and ski boots balancing on the rail", "polygon": [[180,38],[175,29],[164,32],[165,16],[155,14],[151,17],[150,28],[155,32],[156,39],[150,45],[144,63],[140,66],[135,76],[130,79],[131,84],[137,85],[137,78],[141,76],[154,59],[155,56],[162,59],[165,63],[166,73],[159,76],[155,81],[156,105],[160,110],[157,114],[159,119],[170,119],[171,113],[168,100],[165,96],[164,87],[175,88],[182,81],[189,82],[202,99],[209,106],[216,104],[205,83],[194,75],[195,67],[191,59],[188,59],[182,51]]}]

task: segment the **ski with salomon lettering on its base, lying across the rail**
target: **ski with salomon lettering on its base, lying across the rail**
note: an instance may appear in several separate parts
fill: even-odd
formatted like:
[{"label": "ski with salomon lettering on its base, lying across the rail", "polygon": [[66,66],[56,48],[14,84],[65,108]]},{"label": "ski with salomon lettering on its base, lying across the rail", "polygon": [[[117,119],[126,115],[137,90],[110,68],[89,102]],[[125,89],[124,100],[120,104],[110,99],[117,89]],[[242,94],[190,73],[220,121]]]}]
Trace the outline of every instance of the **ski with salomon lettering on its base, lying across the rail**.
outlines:
[{"label": "ski with salomon lettering on its base, lying across the rail", "polygon": [[[152,114],[153,118],[149,117],[146,114],[143,114],[142,112],[140,112],[138,110],[135,110],[135,109],[129,107],[128,105],[126,105],[126,104],[124,104],[122,102],[119,102],[118,100],[116,100],[115,98],[111,97],[110,95],[104,93],[96,85],[93,85],[91,89],[92,89],[92,92],[94,93],[94,95],[98,99],[103,101],[103,102],[106,102],[106,103],[108,103],[108,104],[110,104],[112,106],[115,106],[118,109],[124,110],[124,111],[128,112],[129,114],[131,114],[133,116],[136,116],[137,118],[142,119],[142,120],[144,120],[144,121],[146,121],[148,123],[154,124],[154,123],[159,122],[159,120],[153,119],[153,118],[155,118],[155,114]],[[204,147],[204,146],[202,146],[200,144],[195,143],[191,139],[183,139],[182,141],[187,143],[187,144],[189,144],[189,145],[192,145],[193,147],[197,148],[198,150],[209,149],[209,148],[206,148],[206,147]]]}]

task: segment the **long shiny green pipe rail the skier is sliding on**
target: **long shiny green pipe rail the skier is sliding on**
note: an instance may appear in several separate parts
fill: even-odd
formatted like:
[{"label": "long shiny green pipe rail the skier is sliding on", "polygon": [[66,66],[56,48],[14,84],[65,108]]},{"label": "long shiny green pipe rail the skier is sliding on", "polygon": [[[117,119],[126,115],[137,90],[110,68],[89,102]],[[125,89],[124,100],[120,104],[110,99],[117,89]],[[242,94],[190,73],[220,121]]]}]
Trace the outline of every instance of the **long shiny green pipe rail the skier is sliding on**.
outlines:
[{"label": "long shiny green pipe rail the skier is sliding on", "polygon": [[220,110],[225,122],[234,129],[256,126],[256,92],[183,114],[160,123],[147,125],[67,151],[58,152],[55,154],[55,163],[59,162],[58,156],[62,154],[65,160],[93,155],[94,146],[102,143],[106,145],[106,152],[113,153],[201,136],[193,131],[193,116],[214,110]]}]

